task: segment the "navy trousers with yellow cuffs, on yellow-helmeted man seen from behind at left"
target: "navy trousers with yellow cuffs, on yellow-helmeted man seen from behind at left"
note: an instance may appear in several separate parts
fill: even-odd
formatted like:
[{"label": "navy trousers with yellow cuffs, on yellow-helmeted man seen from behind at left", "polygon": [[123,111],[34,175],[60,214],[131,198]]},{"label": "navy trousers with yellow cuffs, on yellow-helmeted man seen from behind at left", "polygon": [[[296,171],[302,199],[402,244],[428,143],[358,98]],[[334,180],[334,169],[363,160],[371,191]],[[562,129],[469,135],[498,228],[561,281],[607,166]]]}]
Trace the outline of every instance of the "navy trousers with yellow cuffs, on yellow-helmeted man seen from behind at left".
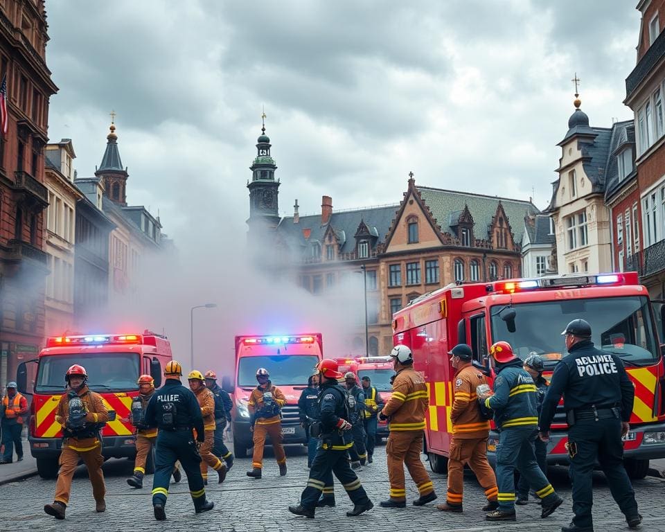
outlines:
[{"label": "navy trousers with yellow cuffs, on yellow-helmeted man seen from behind at left", "polygon": [[157,434],[157,447],[154,457],[154,477],[152,478],[152,505],[166,505],[168,483],[176,461],[180,461],[187,475],[189,493],[194,508],[200,508],[206,502],[206,490],[201,476],[201,456],[196,450],[191,431],[175,432],[160,430]]}]

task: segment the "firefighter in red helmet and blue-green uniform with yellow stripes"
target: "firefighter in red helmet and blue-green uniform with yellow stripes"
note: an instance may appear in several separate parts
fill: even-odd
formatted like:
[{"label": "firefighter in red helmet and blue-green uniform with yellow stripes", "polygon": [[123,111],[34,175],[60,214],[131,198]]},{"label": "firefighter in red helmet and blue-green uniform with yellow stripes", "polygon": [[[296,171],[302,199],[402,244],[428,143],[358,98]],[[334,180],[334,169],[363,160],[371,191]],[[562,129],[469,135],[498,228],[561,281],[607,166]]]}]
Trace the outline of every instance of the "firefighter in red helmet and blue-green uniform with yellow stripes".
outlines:
[{"label": "firefighter in red helmet and blue-green uniform with yellow stripes", "polygon": [[563,499],[554,491],[535,461],[533,436],[538,434],[537,389],[533,378],[522,369],[522,360],[508,342],[490,347],[490,364],[495,367],[494,394],[479,400],[494,411],[499,428],[497,481],[499,507],[485,516],[487,521],[515,521],[515,469],[542,499],[540,517],[551,515]]}]

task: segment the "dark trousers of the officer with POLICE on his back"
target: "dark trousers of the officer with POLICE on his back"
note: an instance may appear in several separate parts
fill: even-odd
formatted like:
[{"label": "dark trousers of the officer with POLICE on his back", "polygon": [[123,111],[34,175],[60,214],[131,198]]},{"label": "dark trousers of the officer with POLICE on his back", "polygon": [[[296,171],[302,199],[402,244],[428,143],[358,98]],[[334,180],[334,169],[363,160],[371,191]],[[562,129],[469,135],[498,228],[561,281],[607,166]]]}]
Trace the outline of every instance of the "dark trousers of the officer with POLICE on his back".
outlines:
[{"label": "dark trousers of the officer with POLICE on his back", "polygon": [[592,526],[592,473],[596,460],[608,479],[610,493],[623,515],[637,515],[635,491],[623,468],[621,420],[579,420],[568,431],[568,454],[573,482],[574,524]]}]

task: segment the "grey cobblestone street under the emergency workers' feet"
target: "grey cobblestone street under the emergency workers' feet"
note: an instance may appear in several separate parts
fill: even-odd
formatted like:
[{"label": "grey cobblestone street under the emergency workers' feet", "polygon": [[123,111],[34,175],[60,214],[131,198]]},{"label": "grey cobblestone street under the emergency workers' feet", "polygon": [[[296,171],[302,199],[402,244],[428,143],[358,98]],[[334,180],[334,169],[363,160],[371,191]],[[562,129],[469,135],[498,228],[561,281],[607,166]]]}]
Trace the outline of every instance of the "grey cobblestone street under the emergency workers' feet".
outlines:
[{"label": "grey cobblestone street under the emergency workers' feet", "polygon": [[[125,479],[132,472],[132,463],[126,460],[110,460],[104,465],[107,482],[107,511],[95,513],[94,499],[84,468],[77,472],[73,483],[71,504],[67,508],[67,520],[57,521],[42,511],[42,506],[53,500],[55,481],[33,477],[25,481],[6,484],[0,488],[0,531],[121,531],[163,530],[168,526],[173,531],[332,531],[342,526],[373,531],[508,531],[533,530],[541,532],[559,531],[571,517],[570,488],[567,470],[550,470],[550,480],[565,498],[565,503],[547,520],[540,519],[540,506],[529,504],[517,508],[517,522],[489,524],[484,522],[480,510],[484,504],[482,491],[472,475],[465,482],[464,508],[462,515],[447,515],[429,504],[424,508],[407,506],[404,510],[384,510],[378,502],[387,498],[388,481],[385,447],[378,447],[375,461],[360,472],[375,508],[361,517],[348,518],[346,511],[351,504],[344,491],[335,486],[336,508],[322,508],[315,520],[296,517],[287,511],[289,504],[296,504],[305,485],[308,470],[306,457],[300,450],[289,454],[287,477],[279,477],[274,460],[268,458],[264,464],[261,480],[245,476],[251,461],[236,460],[222,486],[211,484],[207,493],[215,502],[209,513],[195,515],[187,484],[171,484],[166,512],[166,525],[154,520],[150,504],[152,476],[148,475],[142,490],[132,490]],[[429,470],[429,468],[428,468]],[[445,497],[445,475],[432,475],[439,495],[438,502]],[[635,482],[637,502],[644,516],[642,530],[665,532],[665,516],[662,513],[662,497],[665,480],[647,477]],[[407,498],[416,498],[413,484],[407,481]],[[610,490],[603,475],[597,474],[594,483],[594,519],[596,531],[628,530],[619,508],[612,502]]]}]

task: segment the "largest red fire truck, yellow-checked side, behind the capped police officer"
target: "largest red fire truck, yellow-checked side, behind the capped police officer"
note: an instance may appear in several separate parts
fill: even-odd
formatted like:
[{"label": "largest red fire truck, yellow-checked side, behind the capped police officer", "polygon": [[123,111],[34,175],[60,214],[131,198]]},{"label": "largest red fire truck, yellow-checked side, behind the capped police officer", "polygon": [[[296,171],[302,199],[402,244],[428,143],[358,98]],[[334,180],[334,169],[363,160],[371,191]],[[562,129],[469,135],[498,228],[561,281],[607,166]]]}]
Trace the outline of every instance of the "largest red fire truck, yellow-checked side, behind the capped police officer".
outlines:
[{"label": "largest red fire truck, yellow-checked side, behind the capped police officer", "polygon": [[[624,438],[630,477],[643,478],[649,460],[665,457],[665,375],[657,321],[637,273],[557,276],[448,285],[420,296],[393,315],[393,343],[414,353],[429,389],[425,430],[429,463],[444,472],[450,446],[454,369],[447,352],[469,344],[475,366],[487,373],[489,346],[509,342],[523,360],[542,357],[544,377],[567,355],[560,332],[569,321],[591,323],[597,348],[619,356],[635,384],[630,432]],[[560,402],[547,446],[548,463],[568,463],[567,424]],[[490,432],[488,458],[498,436]]]}]

